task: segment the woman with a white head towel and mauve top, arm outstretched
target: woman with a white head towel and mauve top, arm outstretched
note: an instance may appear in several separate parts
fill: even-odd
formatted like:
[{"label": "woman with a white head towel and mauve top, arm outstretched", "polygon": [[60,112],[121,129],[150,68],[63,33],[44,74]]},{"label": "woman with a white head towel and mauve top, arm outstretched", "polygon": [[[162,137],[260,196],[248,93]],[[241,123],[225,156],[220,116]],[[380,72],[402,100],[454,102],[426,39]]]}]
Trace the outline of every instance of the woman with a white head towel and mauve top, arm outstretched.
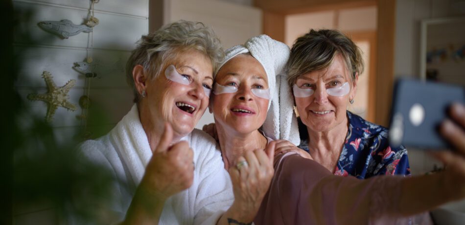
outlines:
[{"label": "woman with a white head towel and mauve top, arm outstretched", "polygon": [[[228,49],[215,78],[210,109],[235,196],[268,190],[246,208],[257,212],[255,224],[394,224],[400,217],[465,197],[465,144],[457,135],[452,141],[459,151],[439,157],[450,168],[430,176],[358,180],[333,176],[319,163],[293,152],[273,157],[275,149],[292,147],[288,141],[273,139],[290,138],[296,129],[280,126],[279,120],[287,120],[292,112],[277,107],[290,96],[284,94],[289,89],[282,73],[288,54],[286,45],[260,35]],[[461,109],[462,117],[454,118],[465,127]],[[451,126],[449,135],[455,131],[465,136],[463,130],[457,132],[459,127]],[[261,187],[243,188],[246,182],[261,183]],[[250,224],[252,220],[230,222]]]}]

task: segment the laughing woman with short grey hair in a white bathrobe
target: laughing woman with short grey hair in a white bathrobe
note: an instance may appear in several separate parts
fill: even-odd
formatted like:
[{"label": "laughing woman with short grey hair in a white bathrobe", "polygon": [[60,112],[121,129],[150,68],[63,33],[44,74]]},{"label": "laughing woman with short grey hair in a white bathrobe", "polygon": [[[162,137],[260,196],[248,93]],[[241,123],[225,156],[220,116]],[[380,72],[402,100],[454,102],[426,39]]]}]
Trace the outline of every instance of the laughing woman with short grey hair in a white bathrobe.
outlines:
[{"label": "laughing woman with short grey hair in a white bathrobe", "polygon": [[223,57],[201,23],[174,22],[140,39],[127,63],[134,106],[110,133],[81,145],[113,172],[116,221],[227,224],[249,215],[241,210],[250,201],[233,199],[214,140],[194,129]]}]

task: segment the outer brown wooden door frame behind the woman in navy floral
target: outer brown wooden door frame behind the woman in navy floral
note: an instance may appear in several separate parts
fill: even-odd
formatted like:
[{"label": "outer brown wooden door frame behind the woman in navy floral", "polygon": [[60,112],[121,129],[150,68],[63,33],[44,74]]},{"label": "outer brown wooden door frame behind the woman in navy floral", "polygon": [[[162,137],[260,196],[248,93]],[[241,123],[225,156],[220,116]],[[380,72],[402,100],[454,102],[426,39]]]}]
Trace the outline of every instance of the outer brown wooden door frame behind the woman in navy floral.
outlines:
[{"label": "outer brown wooden door frame behind the woman in navy floral", "polygon": [[[282,2],[282,1],[281,1]],[[256,0],[255,6],[263,10],[263,33],[284,42],[285,17],[296,13],[347,9],[376,5],[378,9],[376,31],[376,58],[374,96],[370,100],[371,121],[388,126],[391,113],[394,83],[395,0]]]}]

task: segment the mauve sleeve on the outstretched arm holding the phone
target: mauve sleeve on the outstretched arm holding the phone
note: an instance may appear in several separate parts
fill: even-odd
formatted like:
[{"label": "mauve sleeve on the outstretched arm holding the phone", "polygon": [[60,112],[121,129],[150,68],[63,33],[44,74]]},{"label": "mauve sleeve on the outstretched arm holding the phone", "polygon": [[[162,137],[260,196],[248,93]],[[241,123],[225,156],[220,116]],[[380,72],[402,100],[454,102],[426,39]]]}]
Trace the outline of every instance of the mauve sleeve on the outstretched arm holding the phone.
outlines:
[{"label": "mauve sleeve on the outstretched arm holding the phone", "polygon": [[[314,160],[282,154],[275,157],[275,176],[254,222],[256,225],[409,224],[410,218],[402,217],[398,208],[401,179],[334,176]],[[428,224],[428,218],[419,219],[420,224]]]}]

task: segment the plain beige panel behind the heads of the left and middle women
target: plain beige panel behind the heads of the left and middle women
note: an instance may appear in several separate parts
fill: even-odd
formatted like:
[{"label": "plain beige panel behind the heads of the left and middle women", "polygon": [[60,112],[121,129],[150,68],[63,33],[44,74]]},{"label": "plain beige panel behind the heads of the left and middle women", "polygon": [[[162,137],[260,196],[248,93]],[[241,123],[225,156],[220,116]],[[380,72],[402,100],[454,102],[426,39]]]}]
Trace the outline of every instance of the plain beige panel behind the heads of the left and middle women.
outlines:
[{"label": "plain beige panel behind the heads of the left and middle women", "polygon": [[[188,20],[203,22],[213,28],[223,47],[243,44],[262,33],[260,9],[218,0],[164,0],[163,23]],[[196,128],[214,122],[208,110]]]}]

